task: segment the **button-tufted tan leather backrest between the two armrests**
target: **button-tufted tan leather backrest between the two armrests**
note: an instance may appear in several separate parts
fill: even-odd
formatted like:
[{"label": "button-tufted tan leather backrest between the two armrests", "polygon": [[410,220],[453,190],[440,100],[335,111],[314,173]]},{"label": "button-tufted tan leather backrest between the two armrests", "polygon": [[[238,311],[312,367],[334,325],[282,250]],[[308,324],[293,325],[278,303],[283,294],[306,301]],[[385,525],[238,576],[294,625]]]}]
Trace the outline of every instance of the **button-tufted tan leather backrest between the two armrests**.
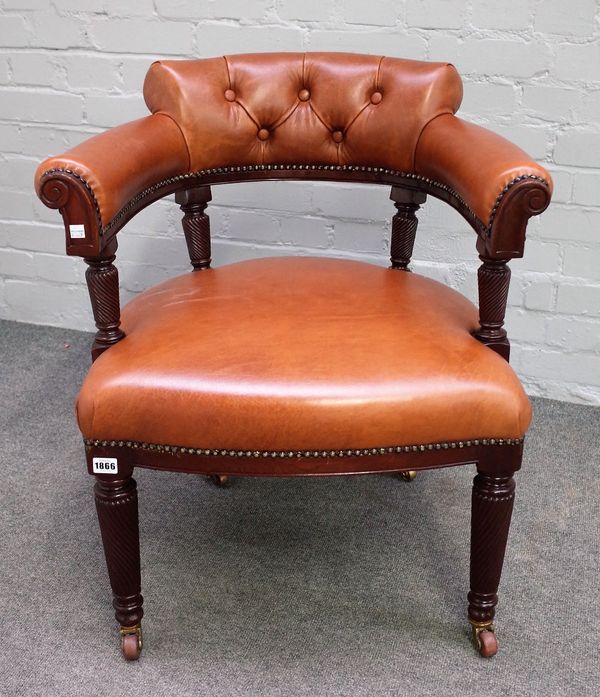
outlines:
[{"label": "button-tufted tan leather backrest between the two armrests", "polygon": [[412,172],[423,128],[456,112],[462,83],[448,63],[262,53],[158,61],[144,98],[180,128],[192,171],[360,164]]}]

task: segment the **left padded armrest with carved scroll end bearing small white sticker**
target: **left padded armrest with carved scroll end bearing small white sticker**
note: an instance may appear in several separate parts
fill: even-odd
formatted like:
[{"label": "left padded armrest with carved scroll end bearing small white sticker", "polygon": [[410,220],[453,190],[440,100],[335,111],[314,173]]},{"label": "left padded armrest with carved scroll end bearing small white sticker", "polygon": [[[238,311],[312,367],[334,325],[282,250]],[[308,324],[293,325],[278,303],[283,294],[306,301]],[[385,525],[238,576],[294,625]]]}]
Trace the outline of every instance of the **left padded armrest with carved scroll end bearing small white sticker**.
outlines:
[{"label": "left padded armrest with carved scroll end bearing small white sticker", "polygon": [[153,114],[89,138],[38,167],[36,191],[65,221],[67,253],[95,256],[108,244],[111,221],[146,187],[189,170],[178,126]]}]

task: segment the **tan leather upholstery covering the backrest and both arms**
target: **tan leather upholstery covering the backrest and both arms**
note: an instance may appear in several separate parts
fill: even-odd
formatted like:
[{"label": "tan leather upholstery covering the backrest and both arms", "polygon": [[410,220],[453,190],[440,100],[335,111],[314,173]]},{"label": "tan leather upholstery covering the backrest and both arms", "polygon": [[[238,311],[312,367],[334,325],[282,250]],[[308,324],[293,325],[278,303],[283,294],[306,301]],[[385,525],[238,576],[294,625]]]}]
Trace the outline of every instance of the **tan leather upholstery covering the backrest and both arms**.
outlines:
[{"label": "tan leather upholstery covering the backrest and both arms", "polygon": [[246,54],[158,61],[144,85],[154,113],[44,161],[88,183],[106,226],[167,177],[227,166],[359,165],[455,190],[488,224],[516,176],[543,167],[509,141],[454,117],[462,83],[447,63],[349,53]]}]

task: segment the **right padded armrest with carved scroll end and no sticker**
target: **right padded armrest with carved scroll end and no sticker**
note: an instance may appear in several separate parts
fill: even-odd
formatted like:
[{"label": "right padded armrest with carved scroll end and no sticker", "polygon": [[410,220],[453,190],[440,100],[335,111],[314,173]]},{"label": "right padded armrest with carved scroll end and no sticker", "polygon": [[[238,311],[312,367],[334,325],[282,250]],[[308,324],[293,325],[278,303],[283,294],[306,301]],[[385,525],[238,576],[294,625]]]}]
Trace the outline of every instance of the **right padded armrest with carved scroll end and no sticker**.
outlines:
[{"label": "right padded armrest with carved scroll end and no sticker", "polygon": [[548,172],[520,148],[450,114],[423,129],[415,169],[464,201],[481,222],[479,252],[491,258],[523,256],[527,221],[552,195]]}]

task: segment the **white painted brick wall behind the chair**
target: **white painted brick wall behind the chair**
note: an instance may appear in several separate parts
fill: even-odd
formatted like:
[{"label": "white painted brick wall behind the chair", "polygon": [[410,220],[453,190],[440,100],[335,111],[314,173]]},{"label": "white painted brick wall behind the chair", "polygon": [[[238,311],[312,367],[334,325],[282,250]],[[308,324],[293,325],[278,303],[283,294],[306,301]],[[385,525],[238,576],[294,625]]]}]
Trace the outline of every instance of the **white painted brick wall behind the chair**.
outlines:
[{"label": "white painted brick wall behind the chair", "polygon": [[[91,329],[84,265],[32,190],[37,162],[146,113],[155,57],[344,50],[454,61],[461,113],[552,172],[554,203],[512,264],[507,327],[532,394],[600,404],[600,0],[0,0],[0,316]],[[385,188],[215,187],[216,264],[327,254],[385,264]],[[124,300],[188,267],[179,210],[120,235]],[[413,268],[475,298],[475,237],[439,201]]]}]

